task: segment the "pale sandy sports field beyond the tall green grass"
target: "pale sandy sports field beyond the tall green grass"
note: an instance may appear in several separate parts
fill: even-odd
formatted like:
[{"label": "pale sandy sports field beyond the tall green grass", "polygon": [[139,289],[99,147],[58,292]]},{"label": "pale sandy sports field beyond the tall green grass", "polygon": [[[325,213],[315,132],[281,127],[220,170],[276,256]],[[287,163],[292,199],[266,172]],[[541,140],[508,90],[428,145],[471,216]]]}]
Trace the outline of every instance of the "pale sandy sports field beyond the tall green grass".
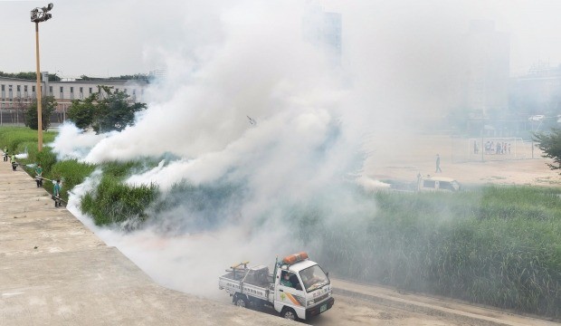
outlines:
[{"label": "pale sandy sports field beyond the tall green grass", "polygon": [[[385,139],[384,141],[378,139]],[[386,141],[392,139],[391,141]],[[512,139],[494,139],[510,144],[505,154],[475,154],[473,141],[448,136],[418,135],[415,137],[371,137],[366,142],[369,156],[364,175],[373,179],[415,181],[416,176],[435,175],[436,154],[440,155],[441,177],[452,177],[463,185],[534,185],[559,186],[561,176],[551,170],[542,152],[530,142]],[[487,142],[490,139],[484,139]],[[479,145],[480,146],[480,145]]]}]

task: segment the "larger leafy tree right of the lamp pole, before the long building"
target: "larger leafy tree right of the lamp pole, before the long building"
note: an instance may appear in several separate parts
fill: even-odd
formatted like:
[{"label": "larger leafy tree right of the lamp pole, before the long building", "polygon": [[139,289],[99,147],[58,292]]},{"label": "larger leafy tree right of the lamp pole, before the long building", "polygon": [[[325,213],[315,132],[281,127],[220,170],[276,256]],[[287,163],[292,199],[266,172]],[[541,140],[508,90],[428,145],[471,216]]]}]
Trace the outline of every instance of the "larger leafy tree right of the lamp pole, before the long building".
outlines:
[{"label": "larger leafy tree right of the lamp pole, before the long building", "polygon": [[113,87],[109,86],[100,88],[107,96],[92,93],[85,100],[72,101],[66,117],[74,122],[76,127],[91,128],[96,133],[121,131],[134,125],[135,113],[147,107],[146,103],[129,103],[129,96],[124,91],[113,91]]}]

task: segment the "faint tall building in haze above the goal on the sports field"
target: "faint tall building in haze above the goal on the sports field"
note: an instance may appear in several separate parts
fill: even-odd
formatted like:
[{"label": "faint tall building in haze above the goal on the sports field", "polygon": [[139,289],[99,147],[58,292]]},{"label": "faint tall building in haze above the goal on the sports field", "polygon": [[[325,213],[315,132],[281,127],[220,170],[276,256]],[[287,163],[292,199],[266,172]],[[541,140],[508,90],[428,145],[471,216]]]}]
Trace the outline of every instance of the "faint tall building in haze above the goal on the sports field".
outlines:
[{"label": "faint tall building in haze above the goal on the sports field", "polygon": [[462,106],[481,118],[509,107],[509,34],[492,21],[471,21],[465,34]]}]

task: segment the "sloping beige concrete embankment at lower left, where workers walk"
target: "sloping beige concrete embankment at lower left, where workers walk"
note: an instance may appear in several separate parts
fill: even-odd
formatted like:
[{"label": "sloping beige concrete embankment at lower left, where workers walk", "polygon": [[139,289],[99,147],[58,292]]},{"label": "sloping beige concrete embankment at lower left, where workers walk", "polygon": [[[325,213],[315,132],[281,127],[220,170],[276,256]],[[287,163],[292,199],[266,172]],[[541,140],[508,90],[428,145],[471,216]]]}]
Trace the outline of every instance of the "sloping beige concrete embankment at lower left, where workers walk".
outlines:
[{"label": "sloping beige concrete embankment at lower left, where workers walk", "polygon": [[295,323],[157,285],[0,161],[0,325],[226,324]]}]

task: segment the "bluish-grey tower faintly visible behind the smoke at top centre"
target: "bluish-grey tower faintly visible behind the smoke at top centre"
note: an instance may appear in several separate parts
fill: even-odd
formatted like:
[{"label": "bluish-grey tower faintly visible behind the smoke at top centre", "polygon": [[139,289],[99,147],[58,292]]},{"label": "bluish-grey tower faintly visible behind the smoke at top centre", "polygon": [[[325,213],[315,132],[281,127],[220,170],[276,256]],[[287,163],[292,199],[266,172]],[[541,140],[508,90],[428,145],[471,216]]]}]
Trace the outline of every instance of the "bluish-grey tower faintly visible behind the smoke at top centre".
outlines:
[{"label": "bluish-grey tower faintly visible behind the smoke at top centre", "polygon": [[302,30],[304,39],[325,51],[332,64],[341,64],[341,14],[326,12],[320,5],[309,5]]}]

